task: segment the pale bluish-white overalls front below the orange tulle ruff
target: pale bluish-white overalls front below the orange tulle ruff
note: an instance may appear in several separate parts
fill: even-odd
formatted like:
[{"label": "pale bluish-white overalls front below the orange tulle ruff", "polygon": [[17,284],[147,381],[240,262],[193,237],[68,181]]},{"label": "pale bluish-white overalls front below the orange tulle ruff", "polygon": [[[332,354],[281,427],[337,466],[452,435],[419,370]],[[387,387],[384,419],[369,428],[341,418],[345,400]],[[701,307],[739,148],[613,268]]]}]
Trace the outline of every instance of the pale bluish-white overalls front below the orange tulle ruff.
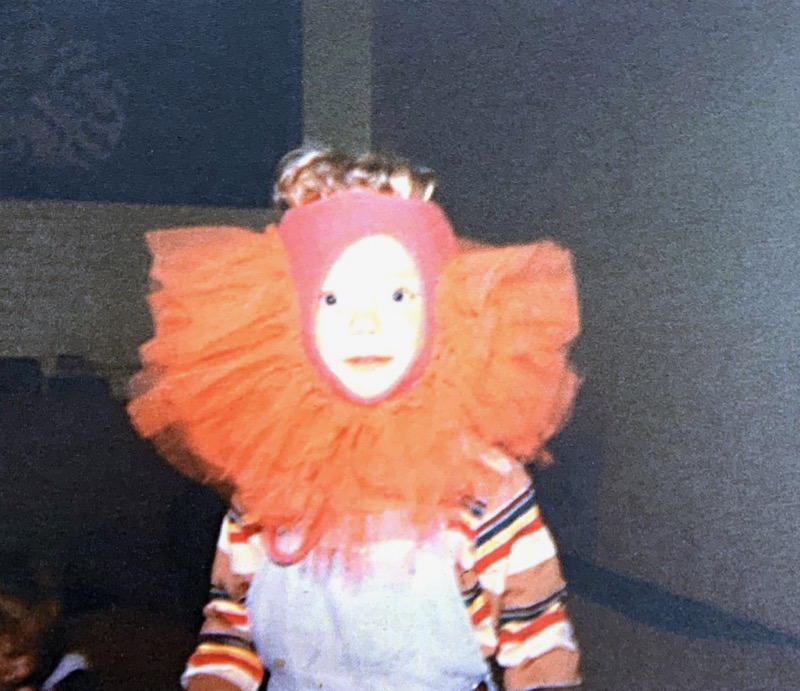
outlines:
[{"label": "pale bluish-white overalls front below the orange tulle ruff", "polygon": [[493,688],[445,536],[374,544],[357,580],[265,560],[247,607],[270,691]]}]

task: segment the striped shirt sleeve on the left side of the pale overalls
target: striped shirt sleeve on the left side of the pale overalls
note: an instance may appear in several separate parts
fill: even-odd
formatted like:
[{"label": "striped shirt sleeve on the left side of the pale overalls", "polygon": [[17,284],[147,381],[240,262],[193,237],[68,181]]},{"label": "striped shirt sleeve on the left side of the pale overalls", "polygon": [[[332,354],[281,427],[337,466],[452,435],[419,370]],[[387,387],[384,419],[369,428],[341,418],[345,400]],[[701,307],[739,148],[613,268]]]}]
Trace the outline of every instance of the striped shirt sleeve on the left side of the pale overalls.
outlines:
[{"label": "striped shirt sleeve on the left side of the pale overalls", "polygon": [[263,557],[258,527],[229,511],[217,542],[199,644],[181,677],[183,688],[191,691],[198,675],[224,679],[241,691],[259,688],[264,668],[253,645],[245,598]]}]

